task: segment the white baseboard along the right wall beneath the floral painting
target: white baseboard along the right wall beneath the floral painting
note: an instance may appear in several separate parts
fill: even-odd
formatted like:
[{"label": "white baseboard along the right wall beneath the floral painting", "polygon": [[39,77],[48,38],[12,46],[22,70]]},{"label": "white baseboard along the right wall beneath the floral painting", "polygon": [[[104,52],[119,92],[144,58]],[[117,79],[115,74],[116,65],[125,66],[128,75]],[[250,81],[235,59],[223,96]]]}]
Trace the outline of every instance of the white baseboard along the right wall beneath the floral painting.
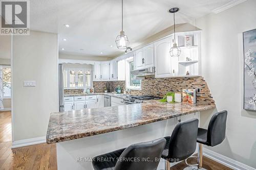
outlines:
[{"label": "white baseboard along the right wall beneath the floral painting", "polygon": [[211,151],[211,150],[208,150],[206,148],[203,149],[203,155],[212,159],[212,160],[215,160],[216,162],[219,162],[223,165],[226,165],[232,169],[237,169],[237,170],[256,170],[255,168],[253,167],[250,167],[248,165],[245,165],[241,162],[238,162],[236,160],[233,160],[233,159],[230,159],[226,156],[223,156],[221,154],[218,154],[214,151]]}]

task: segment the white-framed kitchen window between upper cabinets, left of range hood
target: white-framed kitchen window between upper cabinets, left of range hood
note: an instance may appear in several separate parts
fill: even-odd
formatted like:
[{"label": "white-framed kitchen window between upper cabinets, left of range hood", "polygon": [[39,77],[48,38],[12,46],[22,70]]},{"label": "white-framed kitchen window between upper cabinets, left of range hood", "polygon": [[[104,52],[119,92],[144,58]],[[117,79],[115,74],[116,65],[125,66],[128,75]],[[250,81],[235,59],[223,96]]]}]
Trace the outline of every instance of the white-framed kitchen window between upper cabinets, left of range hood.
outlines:
[{"label": "white-framed kitchen window between upper cabinets, left of range hood", "polygon": [[133,57],[126,59],[126,88],[133,90],[141,90],[141,80],[137,80],[135,75],[131,74],[131,70],[134,69]]}]

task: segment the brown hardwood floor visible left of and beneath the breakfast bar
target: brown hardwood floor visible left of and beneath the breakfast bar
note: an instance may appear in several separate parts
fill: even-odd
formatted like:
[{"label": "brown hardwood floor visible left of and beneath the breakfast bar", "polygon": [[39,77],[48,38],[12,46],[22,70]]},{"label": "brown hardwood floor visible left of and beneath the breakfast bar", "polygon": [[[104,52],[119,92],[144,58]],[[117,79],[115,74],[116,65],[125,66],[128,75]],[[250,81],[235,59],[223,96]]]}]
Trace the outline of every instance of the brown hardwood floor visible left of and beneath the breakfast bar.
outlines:
[{"label": "brown hardwood floor visible left of and beneath the breakfast bar", "polygon": [[[57,169],[56,144],[35,144],[28,147],[11,149],[11,112],[0,112],[0,169]],[[189,163],[196,163],[191,158]],[[172,170],[186,167],[185,162],[173,166]],[[208,170],[229,170],[230,168],[207,157],[203,167]]]}]

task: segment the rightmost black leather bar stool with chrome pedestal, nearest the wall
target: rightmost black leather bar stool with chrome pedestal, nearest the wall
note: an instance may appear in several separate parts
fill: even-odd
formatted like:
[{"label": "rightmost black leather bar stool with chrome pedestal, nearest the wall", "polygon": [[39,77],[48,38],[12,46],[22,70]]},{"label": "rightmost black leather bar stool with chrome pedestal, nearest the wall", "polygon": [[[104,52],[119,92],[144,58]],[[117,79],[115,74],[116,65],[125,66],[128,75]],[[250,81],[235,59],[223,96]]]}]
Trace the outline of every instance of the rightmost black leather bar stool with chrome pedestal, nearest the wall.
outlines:
[{"label": "rightmost black leather bar stool with chrome pedestal, nearest the wall", "polygon": [[[185,169],[205,169],[203,168],[203,144],[214,147],[220,144],[226,135],[227,111],[215,113],[209,122],[208,129],[198,128],[198,166],[189,166]],[[186,164],[189,165],[186,161]],[[205,169],[206,170],[206,169]]]}]

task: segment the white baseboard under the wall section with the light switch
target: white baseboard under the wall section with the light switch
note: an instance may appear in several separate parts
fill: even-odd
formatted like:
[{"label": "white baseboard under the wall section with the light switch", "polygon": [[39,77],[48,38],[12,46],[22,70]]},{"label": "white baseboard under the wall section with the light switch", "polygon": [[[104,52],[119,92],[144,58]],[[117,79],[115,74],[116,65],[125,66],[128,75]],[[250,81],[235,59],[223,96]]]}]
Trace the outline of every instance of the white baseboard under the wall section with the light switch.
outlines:
[{"label": "white baseboard under the wall section with the light switch", "polygon": [[17,140],[12,142],[12,149],[13,148],[19,148],[19,147],[26,147],[28,145],[32,144],[39,144],[39,143],[45,143],[46,137],[36,137],[36,138],[30,138],[30,139],[23,139],[23,140]]}]

